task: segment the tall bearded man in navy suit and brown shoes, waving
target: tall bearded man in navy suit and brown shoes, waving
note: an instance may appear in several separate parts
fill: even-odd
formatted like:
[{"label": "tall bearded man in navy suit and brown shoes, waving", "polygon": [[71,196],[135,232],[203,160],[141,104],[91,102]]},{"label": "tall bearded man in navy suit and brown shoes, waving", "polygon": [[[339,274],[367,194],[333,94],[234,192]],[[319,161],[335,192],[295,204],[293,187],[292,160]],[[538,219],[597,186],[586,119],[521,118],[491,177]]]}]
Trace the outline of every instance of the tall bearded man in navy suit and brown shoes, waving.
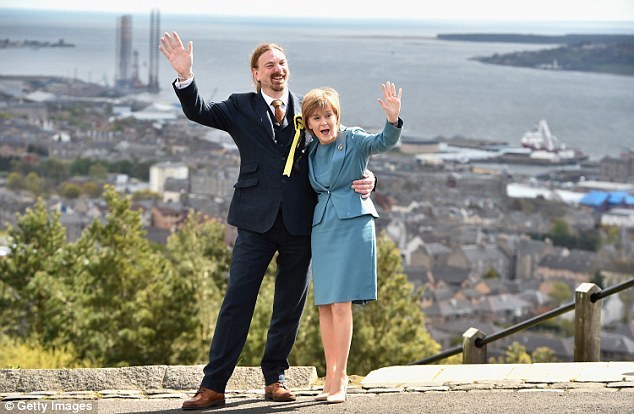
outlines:
[{"label": "tall bearded man in navy suit and brown shoes, waving", "polygon": [[[185,49],[176,32],[165,33],[160,50],[178,73],[173,85],[187,118],[228,132],[240,152],[240,172],[227,219],[238,229],[229,282],[200,389],[183,403],[183,409],[224,405],[226,384],[244,347],[262,279],[276,252],[273,314],[261,362],[264,395],[272,401],[294,401],[284,384],[284,372],[308,292],[316,194],[308,180],[308,157],[303,156],[308,144],[303,138],[293,142],[301,97],[288,89],[286,56],[275,44],[258,46],[251,56],[257,92],[206,103],[192,72],[192,42]],[[366,196],[373,186],[373,178],[353,183]]]}]

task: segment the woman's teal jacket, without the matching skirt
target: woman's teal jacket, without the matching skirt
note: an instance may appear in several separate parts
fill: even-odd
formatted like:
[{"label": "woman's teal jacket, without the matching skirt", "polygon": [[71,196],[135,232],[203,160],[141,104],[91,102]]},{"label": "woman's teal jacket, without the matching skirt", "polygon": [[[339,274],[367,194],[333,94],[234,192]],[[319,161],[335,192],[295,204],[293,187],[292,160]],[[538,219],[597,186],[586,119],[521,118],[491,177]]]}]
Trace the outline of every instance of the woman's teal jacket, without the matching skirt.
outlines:
[{"label": "woman's teal jacket, without the matching skirt", "polygon": [[[403,121],[399,118],[398,127],[386,121],[379,134],[368,134],[359,127],[340,127],[332,161],[331,186],[326,188],[315,180],[315,151],[319,141],[314,139],[308,156],[308,176],[315,192],[317,206],[313,214],[313,226],[319,224],[329,201],[334,205],[339,219],[359,217],[371,214],[379,217],[370,198],[362,198],[350,184],[363,176],[371,155],[379,154],[393,148],[401,137]],[[308,133],[307,133],[308,134]]]}]

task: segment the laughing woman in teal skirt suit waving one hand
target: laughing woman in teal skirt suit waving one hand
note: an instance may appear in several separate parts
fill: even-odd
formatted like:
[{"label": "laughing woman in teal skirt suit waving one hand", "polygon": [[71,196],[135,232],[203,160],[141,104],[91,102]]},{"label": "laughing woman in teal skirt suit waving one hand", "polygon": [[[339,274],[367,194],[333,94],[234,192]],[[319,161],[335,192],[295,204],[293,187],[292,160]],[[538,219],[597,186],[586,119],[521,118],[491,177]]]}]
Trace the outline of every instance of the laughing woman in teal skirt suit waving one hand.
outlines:
[{"label": "laughing woman in teal skirt suit waving one hand", "polygon": [[[309,178],[318,194],[311,247],[315,304],[326,358],[326,382],[320,401],[346,399],[347,363],[352,341],[352,303],[376,300],[376,239],[372,201],[361,198],[350,182],[367,167],[370,155],[394,147],[401,136],[402,89],[382,85],[378,99],[387,122],[375,135],[340,124],[334,89],[313,89],[304,96],[302,117],[317,138],[309,152]],[[354,258],[354,260],[352,260]]]}]

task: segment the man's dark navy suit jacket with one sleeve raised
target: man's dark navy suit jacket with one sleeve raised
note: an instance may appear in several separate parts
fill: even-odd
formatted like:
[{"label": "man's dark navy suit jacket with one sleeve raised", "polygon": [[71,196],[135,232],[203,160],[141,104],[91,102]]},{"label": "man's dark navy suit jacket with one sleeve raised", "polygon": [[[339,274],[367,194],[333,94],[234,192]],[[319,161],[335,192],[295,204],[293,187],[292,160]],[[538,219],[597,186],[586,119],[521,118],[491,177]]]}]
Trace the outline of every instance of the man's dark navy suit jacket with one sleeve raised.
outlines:
[{"label": "man's dark navy suit jacket with one sleeve raised", "polygon": [[[222,102],[207,103],[192,82],[186,88],[174,86],[185,116],[201,125],[221,129],[231,135],[240,152],[240,174],[234,184],[229,207],[229,224],[264,233],[282,211],[286,229],[296,236],[310,235],[317,195],[308,180],[308,157],[305,138],[295,152],[295,166],[290,177],[283,176],[292,141],[285,148],[275,142],[271,111],[260,93],[236,93]],[[301,97],[289,94],[287,108],[301,113]],[[284,121],[284,125],[288,123]],[[291,138],[295,130],[294,125]],[[299,158],[299,159],[298,159]]]}]

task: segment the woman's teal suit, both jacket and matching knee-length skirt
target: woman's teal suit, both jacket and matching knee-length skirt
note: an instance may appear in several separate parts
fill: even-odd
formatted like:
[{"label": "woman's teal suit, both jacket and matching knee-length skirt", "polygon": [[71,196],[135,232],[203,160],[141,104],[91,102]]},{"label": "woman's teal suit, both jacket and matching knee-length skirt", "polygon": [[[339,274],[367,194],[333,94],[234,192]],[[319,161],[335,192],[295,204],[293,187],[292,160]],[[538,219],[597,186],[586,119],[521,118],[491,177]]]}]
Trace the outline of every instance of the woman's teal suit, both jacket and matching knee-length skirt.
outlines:
[{"label": "woman's teal suit, both jacket and matching knee-length skirt", "polygon": [[378,217],[370,198],[351,188],[371,155],[394,147],[403,121],[386,122],[379,134],[340,127],[336,141],[314,140],[309,152],[309,178],[318,201],[311,233],[315,304],[365,303],[377,299],[376,232]]}]

